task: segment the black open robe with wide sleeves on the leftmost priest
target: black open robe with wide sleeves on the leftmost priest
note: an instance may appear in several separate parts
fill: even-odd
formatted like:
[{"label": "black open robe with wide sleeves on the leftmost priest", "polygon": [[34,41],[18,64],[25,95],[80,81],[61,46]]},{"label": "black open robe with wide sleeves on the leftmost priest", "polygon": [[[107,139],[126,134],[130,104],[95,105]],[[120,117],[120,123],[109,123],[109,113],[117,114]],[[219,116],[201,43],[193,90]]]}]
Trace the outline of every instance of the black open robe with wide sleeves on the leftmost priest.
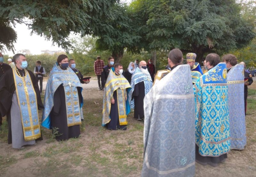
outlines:
[{"label": "black open robe with wide sleeves on the leftmost priest", "polygon": [[[25,76],[25,71],[20,70],[17,68],[20,74],[23,73]],[[31,78],[31,82],[34,86],[34,90],[36,92],[36,99],[37,99],[37,108],[39,110],[44,108],[44,105],[41,100],[40,91],[38,87],[38,83],[36,82],[36,77],[33,74],[32,71],[28,70],[28,74]],[[8,122],[8,144],[12,144],[12,128],[11,128],[11,106],[12,106],[12,96],[15,88],[14,78],[12,70],[6,71],[6,73],[1,77],[0,79],[0,112],[3,116],[6,115],[7,122]],[[37,140],[42,140],[42,134],[41,137]]]}]

